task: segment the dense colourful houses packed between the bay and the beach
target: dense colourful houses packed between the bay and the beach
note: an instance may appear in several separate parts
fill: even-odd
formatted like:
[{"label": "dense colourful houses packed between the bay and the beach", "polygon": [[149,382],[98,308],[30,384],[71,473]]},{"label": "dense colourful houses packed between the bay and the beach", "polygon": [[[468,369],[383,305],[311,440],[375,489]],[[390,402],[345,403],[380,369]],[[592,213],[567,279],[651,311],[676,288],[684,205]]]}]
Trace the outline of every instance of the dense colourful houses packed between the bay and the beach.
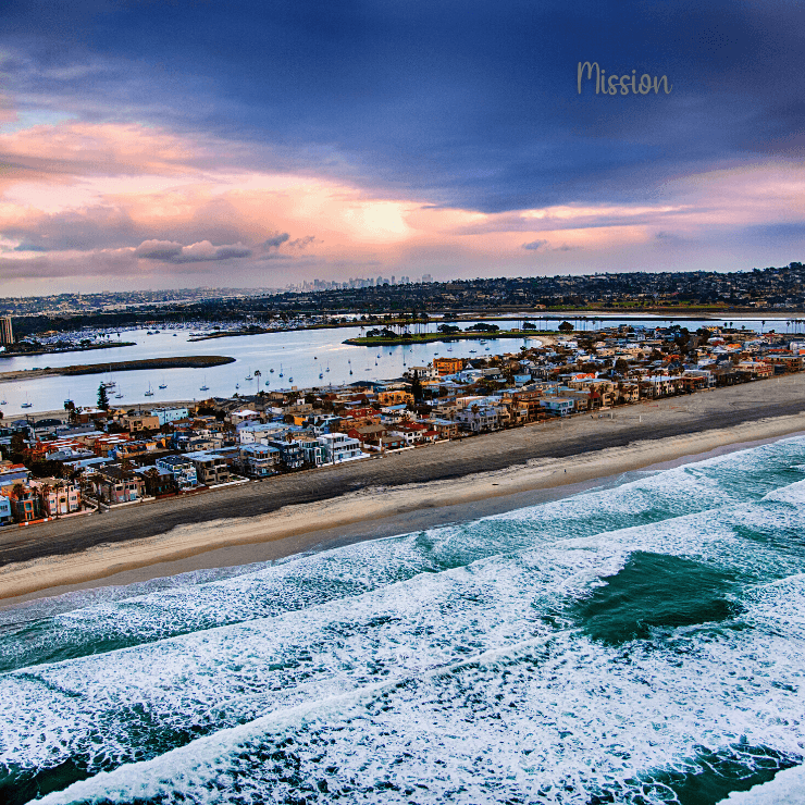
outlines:
[{"label": "dense colourful houses packed between the bay and the beach", "polygon": [[805,364],[805,340],[773,332],[564,331],[517,352],[434,358],[392,381],[3,420],[0,523],[270,482],[281,473],[767,380]]}]

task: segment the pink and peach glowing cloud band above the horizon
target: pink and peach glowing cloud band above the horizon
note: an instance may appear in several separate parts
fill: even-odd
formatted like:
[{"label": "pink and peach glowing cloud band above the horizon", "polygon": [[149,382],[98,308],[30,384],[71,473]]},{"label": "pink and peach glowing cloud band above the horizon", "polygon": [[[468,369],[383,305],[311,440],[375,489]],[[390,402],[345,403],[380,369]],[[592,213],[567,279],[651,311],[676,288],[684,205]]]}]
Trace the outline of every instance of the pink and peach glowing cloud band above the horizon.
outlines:
[{"label": "pink and peach glowing cloud band above the horizon", "polygon": [[324,275],[349,267],[450,275],[621,270],[644,268],[658,249],[668,265],[679,259],[676,268],[689,268],[696,243],[701,259],[744,259],[714,246],[713,233],[800,221],[805,195],[805,168],[766,162],[680,176],[652,203],[483,213],[270,165],[234,170],[239,148],[136,124],[67,121],[0,135],[13,165],[0,183],[0,276],[136,283],[224,263],[237,282],[277,258]]}]

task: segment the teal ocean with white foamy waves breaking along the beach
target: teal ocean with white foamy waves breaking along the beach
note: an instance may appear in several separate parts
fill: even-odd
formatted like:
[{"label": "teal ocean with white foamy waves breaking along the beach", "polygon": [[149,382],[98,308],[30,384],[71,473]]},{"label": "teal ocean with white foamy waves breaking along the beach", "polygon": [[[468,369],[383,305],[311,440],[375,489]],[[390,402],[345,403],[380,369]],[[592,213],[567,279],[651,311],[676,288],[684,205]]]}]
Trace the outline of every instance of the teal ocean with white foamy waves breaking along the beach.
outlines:
[{"label": "teal ocean with white foamy waves breaking along the beach", "polygon": [[0,802],[801,802],[803,503],[795,437],[0,611]]}]

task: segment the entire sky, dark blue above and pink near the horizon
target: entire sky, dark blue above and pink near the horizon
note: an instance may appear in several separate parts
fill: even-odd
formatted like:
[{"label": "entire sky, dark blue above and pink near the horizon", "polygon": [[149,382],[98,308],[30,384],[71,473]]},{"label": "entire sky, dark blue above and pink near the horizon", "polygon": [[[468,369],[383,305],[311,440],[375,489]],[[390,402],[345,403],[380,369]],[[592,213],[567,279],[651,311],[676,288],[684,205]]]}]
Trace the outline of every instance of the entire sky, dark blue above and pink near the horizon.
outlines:
[{"label": "entire sky, dark blue above and pink near the horizon", "polygon": [[800,0],[4,0],[0,23],[2,295],[805,256]]}]

